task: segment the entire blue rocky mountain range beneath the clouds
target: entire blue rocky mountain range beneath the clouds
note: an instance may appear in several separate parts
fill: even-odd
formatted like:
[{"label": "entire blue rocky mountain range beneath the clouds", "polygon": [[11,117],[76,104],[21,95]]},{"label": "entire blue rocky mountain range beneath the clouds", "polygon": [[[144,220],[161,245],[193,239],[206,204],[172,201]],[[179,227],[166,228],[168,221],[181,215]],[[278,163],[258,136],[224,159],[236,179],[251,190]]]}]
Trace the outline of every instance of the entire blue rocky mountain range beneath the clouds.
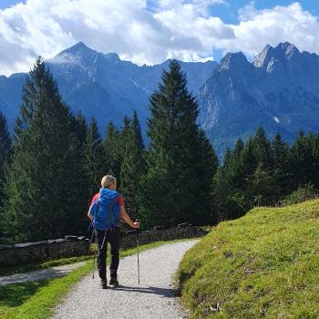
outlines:
[{"label": "entire blue rocky mountain range beneath the clouds", "polygon": [[[149,96],[157,89],[170,60],[155,66],[122,61],[84,43],[46,61],[64,100],[75,114],[94,116],[104,134],[109,120],[120,125],[134,109],[146,128]],[[265,46],[251,62],[228,53],[220,63],[181,62],[188,88],[196,96],[199,123],[222,156],[236,139],[247,139],[262,126],[272,138],[279,131],[292,142],[298,131],[319,131],[319,56],[281,43]],[[1,73],[1,70],[0,70]],[[25,73],[0,76],[0,110],[12,129],[21,105]]]}]

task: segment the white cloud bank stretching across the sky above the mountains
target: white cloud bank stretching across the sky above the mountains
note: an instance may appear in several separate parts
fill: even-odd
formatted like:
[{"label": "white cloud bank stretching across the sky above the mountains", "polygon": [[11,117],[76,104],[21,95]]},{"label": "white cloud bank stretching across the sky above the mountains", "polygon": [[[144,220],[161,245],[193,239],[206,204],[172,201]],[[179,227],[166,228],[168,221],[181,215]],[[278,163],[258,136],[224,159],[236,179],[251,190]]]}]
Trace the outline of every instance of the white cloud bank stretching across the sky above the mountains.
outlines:
[{"label": "white cloud bank stretching across the sky above the mountains", "polygon": [[0,10],[0,74],[27,71],[37,55],[54,57],[78,41],[139,65],[204,61],[215,49],[255,55],[281,41],[319,52],[318,19],[298,3],[251,3],[237,25],[211,16],[211,5],[227,0],[27,0]]}]

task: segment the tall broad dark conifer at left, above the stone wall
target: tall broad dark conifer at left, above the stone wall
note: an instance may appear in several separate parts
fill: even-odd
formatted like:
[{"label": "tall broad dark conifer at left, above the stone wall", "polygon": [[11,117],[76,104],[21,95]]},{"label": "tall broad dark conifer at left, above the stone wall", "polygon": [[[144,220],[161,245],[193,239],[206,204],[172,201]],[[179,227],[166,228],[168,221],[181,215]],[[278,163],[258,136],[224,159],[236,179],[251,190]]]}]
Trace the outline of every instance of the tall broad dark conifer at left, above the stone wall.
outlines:
[{"label": "tall broad dark conifer at left, above the stone wall", "polygon": [[69,109],[41,58],[26,78],[22,100],[6,183],[8,234],[34,241],[80,232],[86,210],[78,190],[81,155]]}]

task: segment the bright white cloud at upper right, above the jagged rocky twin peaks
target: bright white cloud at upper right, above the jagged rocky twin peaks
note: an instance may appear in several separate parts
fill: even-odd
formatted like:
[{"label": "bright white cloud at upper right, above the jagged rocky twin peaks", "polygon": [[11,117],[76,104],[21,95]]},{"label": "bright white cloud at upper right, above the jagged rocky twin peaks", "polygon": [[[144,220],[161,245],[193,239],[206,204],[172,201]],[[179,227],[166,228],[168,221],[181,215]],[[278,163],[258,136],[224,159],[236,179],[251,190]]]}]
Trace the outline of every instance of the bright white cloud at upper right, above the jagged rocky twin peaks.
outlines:
[{"label": "bright white cloud at upper right, above the jagged rocky twin peaks", "polygon": [[239,12],[240,23],[232,26],[234,41],[224,41],[227,50],[242,50],[251,56],[266,44],[290,42],[300,50],[319,53],[318,17],[303,10],[299,3],[277,5],[272,9],[256,10],[253,2]]}]

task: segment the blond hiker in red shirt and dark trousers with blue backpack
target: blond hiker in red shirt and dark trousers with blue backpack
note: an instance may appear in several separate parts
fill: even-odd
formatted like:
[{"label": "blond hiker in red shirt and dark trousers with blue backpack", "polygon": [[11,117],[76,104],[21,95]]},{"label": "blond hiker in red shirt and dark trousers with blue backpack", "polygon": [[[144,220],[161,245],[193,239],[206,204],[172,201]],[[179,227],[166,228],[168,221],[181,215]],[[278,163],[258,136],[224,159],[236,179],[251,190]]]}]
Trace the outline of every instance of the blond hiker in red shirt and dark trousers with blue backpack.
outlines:
[{"label": "blond hiker in red shirt and dark trousers with blue backpack", "polygon": [[[133,222],[124,207],[123,196],[118,193],[117,179],[106,175],[101,180],[102,188],[93,197],[87,217],[93,221],[98,242],[98,275],[101,286],[107,288],[107,248],[111,246],[111,262],[109,265],[111,286],[118,286],[118,249],[120,241],[120,221],[126,221],[130,227],[139,228],[139,222]],[[94,229],[93,229],[94,232]]]}]

